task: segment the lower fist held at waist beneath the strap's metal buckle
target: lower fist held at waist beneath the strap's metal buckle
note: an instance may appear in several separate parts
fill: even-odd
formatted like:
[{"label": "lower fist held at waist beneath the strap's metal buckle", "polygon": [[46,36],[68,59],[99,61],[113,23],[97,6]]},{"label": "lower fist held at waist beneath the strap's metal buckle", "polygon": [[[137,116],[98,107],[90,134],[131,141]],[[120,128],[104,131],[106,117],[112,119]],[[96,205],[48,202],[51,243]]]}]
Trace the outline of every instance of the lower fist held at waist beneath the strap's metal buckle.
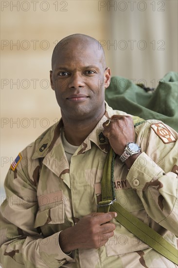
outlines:
[{"label": "lower fist held at waist beneath the strap's metal buckle", "polygon": [[114,235],[115,225],[110,221],[116,212],[90,213],[76,225],[63,230],[59,235],[59,245],[63,252],[74,249],[98,249]]}]

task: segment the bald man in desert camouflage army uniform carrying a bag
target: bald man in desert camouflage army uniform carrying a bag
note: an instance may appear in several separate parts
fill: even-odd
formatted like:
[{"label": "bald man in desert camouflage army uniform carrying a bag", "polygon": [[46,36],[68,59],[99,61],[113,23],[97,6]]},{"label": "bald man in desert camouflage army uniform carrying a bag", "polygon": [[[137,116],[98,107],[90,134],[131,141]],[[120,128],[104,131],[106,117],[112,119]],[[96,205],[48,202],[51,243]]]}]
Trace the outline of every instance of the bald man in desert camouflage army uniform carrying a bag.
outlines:
[{"label": "bald man in desert camouflage army uniform carrying a bag", "polygon": [[[50,79],[62,119],[7,174],[2,267],[177,267],[119,224],[116,212],[97,212],[111,146],[117,202],[176,247],[176,132],[157,121],[134,129],[130,116],[108,107],[110,69],[89,36],[56,45]],[[141,152],[132,144],[137,152],[125,154],[128,142]]]}]

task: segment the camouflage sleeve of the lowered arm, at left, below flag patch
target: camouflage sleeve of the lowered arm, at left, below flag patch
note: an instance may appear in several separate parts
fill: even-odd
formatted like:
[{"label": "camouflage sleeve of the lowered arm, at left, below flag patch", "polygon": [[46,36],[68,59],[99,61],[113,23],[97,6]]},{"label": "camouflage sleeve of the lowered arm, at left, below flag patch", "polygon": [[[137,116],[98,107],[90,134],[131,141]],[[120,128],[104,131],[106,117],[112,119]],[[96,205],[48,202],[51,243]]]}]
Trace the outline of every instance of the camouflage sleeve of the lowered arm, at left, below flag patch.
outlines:
[{"label": "camouflage sleeve of the lowered arm, at left, below flag patch", "polygon": [[[29,162],[28,155],[22,152],[20,156]],[[0,208],[0,259],[3,268],[58,268],[73,260],[60,249],[60,232],[43,237],[40,228],[34,228],[38,211],[37,187],[35,177],[29,171],[34,174],[38,168],[38,165],[32,167],[30,163],[21,161],[7,173],[4,183],[6,199]]]}]

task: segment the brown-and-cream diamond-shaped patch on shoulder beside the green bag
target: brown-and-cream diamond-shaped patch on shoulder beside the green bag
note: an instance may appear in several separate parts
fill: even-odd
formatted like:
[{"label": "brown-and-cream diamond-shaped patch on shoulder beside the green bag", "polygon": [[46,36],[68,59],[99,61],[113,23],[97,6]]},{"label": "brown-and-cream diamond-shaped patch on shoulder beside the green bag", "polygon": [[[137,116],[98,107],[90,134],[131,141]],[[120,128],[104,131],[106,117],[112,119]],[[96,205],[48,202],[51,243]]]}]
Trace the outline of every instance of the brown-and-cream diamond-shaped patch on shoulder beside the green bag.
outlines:
[{"label": "brown-and-cream diamond-shaped patch on shoulder beside the green bag", "polygon": [[152,124],[151,128],[164,143],[170,143],[177,140],[170,130],[161,122]]}]

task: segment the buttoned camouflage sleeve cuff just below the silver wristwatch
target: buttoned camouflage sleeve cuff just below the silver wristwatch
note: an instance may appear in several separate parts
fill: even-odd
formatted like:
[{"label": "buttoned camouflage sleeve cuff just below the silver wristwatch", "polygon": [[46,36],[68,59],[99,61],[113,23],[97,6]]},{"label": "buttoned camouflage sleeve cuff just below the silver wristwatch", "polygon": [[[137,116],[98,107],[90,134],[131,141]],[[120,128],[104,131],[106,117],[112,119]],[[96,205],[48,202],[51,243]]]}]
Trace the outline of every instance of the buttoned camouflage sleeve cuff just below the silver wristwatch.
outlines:
[{"label": "buttoned camouflage sleeve cuff just below the silver wristwatch", "polygon": [[160,172],[164,173],[146,153],[141,153],[131,166],[126,179],[133,189],[144,191]]}]

